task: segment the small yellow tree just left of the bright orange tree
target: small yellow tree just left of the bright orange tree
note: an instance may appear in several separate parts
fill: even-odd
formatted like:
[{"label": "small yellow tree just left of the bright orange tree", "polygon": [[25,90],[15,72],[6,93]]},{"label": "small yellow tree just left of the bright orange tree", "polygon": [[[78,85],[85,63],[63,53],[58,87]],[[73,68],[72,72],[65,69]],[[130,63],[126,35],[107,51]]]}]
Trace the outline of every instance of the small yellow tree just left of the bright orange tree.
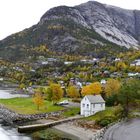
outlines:
[{"label": "small yellow tree just left of the bright orange tree", "polygon": [[68,96],[70,98],[78,98],[80,97],[79,91],[75,86],[69,86],[67,90]]}]

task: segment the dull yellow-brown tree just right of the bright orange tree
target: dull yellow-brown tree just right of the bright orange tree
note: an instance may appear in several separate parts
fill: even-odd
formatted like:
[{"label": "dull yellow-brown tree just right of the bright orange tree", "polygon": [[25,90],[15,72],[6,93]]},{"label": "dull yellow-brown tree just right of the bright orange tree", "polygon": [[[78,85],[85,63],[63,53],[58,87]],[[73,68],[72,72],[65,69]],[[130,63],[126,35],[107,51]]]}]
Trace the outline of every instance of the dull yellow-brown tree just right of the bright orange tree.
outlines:
[{"label": "dull yellow-brown tree just right of the bright orange tree", "polygon": [[111,96],[113,94],[117,94],[121,88],[121,84],[118,80],[109,79],[105,86],[105,93],[107,96]]}]

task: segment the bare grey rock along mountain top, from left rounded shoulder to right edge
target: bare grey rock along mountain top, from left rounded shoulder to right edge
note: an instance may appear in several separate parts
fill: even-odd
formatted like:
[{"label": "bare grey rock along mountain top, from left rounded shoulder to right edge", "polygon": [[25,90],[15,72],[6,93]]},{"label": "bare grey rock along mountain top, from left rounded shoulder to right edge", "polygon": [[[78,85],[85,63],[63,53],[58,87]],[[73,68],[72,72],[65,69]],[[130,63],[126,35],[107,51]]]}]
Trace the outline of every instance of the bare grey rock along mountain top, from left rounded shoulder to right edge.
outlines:
[{"label": "bare grey rock along mountain top, from left rounded shoulder to right edge", "polygon": [[40,24],[52,19],[72,19],[77,24],[95,30],[103,38],[127,48],[138,48],[140,41],[140,11],[125,10],[89,1],[76,7],[56,7],[49,10]]}]

